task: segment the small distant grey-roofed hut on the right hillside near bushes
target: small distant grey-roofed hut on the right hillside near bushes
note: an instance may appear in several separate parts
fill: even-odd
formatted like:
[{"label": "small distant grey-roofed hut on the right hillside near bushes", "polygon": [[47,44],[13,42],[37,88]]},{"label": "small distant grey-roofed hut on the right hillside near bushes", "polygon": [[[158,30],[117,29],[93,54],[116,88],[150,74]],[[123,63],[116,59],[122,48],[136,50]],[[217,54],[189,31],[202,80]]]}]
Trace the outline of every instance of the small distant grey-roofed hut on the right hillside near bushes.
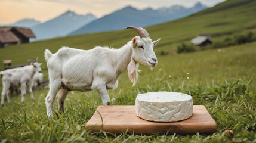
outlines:
[{"label": "small distant grey-roofed hut on the right hillside near bushes", "polygon": [[198,47],[206,46],[212,43],[212,37],[209,34],[201,34],[196,36],[196,38],[192,39],[190,42]]}]

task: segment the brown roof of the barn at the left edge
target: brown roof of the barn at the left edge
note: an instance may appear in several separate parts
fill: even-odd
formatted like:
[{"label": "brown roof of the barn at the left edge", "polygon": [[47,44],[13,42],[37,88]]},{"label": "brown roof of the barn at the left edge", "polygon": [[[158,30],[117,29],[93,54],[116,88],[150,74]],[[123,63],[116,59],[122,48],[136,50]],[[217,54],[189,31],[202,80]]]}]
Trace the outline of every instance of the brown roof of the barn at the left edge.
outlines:
[{"label": "brown roof of the barn at the left edge", "polygon": [[2,43],[20,42],[12,30],[17,30],[26,38],[35,38],[34,33],[30,29],[20,28],[20,27],[0,27],[0,41]]}]

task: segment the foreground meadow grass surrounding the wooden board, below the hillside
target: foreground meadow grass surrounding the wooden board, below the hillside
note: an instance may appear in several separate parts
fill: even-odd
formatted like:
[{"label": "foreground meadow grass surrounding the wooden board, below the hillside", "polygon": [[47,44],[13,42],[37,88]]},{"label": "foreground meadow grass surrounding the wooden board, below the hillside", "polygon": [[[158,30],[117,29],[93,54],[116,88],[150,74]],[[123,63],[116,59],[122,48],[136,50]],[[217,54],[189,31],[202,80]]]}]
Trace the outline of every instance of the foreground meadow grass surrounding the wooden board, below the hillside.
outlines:
[{"label": "foreground meadow grass surrounding the wooden board, below the hillside", "polygon": [[[217,122],[213,135],[91,134],[84,128],[95,108],[102,105],[97,92],[70,92],[60,119],[47,119],[44,98],[48,89],[44,89],[35,91],[34,101],[26,95],[25,104],[16,96],[10,105],[5,101],[0,107],[0,137],[8,142],[255,142],[255,62],[251,62],[256,61],[255,46],[256,42],[226,48],[224,53],[209,50],[158,57],[159,64],[153,71],[141,66],[137,85],[131,86],[125,72],[118,88],[109,91],[112,105],[134,105],[137,94],[151,91],[192,95],[194,104],[205,105]],[[223,134],[226,129],[234,131],[233,140]]]}]

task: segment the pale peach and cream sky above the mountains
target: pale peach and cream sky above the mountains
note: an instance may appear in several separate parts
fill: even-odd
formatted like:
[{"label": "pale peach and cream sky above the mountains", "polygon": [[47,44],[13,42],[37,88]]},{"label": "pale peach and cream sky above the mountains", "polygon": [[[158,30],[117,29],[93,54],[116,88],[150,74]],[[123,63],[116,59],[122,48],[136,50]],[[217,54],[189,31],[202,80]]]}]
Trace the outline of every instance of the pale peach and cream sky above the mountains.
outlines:
[{"label": "pale peach and cream sky above the mountains", "polygon": [[91,13],[100,18],[127,5],[141,10],[171,5],[192,7],[196,2],[212,7],[223,1],[225,0],[0,0],[0,23],[14,23],[24,18],[44,22],[67,10],[78,14]]}]

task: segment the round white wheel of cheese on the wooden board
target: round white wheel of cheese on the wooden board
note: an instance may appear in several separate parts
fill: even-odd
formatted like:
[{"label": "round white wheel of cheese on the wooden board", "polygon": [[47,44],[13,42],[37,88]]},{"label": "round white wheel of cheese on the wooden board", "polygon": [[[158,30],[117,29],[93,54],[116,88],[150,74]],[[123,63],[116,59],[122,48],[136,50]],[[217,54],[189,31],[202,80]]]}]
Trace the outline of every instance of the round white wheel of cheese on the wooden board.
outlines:
[{"label": "round white wheel of cheese on the wooden board", "polygon": [[178,92],[138,94],[136,114],[145,120],[175,122],[188,119],[193,113],[192,97]]}]

